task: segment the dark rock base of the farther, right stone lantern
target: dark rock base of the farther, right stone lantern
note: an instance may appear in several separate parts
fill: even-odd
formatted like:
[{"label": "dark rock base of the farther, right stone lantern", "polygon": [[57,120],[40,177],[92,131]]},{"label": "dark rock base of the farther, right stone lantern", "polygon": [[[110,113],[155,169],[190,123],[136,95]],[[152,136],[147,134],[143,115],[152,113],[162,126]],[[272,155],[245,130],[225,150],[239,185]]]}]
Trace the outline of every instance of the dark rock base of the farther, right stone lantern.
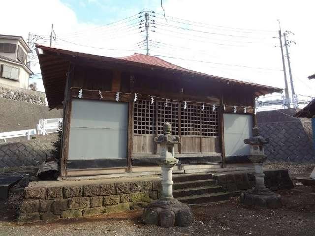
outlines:
[{"label": "dark rock base of the farther, right stone lantern", "polygon": [[249,207],[280,208],[281,196],[272,191],[247,190],[241,193],[241,204]]}]

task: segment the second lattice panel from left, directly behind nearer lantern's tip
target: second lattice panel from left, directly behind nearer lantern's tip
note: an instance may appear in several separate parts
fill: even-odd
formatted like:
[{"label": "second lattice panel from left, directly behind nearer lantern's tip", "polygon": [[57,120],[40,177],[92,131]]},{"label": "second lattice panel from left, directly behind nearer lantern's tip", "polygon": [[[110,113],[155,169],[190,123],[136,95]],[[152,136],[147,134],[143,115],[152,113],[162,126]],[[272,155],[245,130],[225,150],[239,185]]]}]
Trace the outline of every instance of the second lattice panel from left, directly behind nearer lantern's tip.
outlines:
[{"label": "second lattice panel from left, directly behind nearer lantern's tip", "polygon": [[172,134],[178,135],[178,109],[179,104],[167,102],[165,107],[164,101],[158,101],[158,134],[163,133],[163,124],[169,122],[172,125]]}]

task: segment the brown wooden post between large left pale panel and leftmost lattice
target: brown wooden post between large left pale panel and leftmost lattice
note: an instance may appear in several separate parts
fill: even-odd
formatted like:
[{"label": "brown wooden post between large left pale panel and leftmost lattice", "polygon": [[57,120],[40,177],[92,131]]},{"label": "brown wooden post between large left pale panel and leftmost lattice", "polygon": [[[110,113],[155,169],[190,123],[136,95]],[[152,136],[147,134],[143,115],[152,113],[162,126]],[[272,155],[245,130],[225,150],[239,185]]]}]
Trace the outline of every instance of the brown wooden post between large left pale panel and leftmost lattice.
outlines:
[{"label": "brown wooden post between large left pale panel and leftmost lattice", "polygon": [[129,97],[128,103],[128,143],[127,143],[127,172],[132,172],[132,150],[133,150],[133,110],[134,110],[134,101],[132,97]]}]

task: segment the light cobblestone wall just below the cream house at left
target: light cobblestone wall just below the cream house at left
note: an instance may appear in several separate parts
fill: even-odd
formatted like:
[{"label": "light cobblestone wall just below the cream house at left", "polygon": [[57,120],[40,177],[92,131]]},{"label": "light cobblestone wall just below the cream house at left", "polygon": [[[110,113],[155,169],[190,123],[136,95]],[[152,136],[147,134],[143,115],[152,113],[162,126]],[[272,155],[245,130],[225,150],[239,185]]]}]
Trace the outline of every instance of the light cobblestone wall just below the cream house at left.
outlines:
[{"label": "light cobblestone wall just below the cream house at left", "polygon": [[21,89],[0,84],[0,97],[31,104],[46,105],[45,94],[30,89]]}]

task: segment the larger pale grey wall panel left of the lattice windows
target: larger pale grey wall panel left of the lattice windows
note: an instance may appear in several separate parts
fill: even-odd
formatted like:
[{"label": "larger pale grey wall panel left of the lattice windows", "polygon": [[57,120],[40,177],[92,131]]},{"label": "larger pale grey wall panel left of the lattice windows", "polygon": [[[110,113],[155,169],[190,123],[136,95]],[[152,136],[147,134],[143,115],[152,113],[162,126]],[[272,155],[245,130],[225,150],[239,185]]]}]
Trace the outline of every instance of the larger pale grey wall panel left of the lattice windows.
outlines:
[{"label": "larger pale grey wall panel left of the lattice windows", "polygon": [[75,99],[68,160],[126,158],[127,103]]}]

